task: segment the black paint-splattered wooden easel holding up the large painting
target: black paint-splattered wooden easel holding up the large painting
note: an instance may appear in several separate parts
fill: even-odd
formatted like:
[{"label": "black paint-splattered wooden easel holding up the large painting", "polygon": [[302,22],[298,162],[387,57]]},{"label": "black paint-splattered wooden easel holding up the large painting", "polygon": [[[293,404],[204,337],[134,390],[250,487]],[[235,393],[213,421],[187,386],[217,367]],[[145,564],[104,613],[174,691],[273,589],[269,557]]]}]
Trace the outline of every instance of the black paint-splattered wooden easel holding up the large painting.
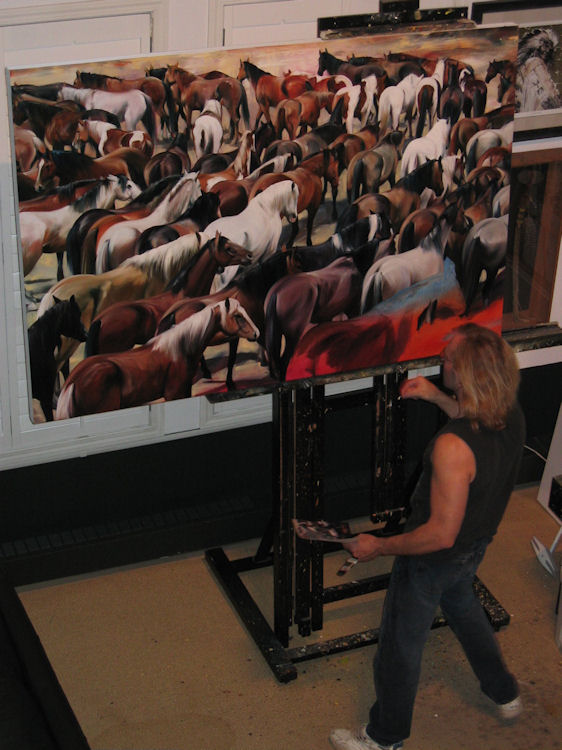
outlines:
[{"label": "black paint-splattered wooden easel holding up the large painting", "polygon": [[[340,400],[346,407],[353,400],[358,401],[372,411],[371,508],[381,510],[375,510],[371,518],[390,526],[398,523],[407,501],[401,496],[405,417],[398,395],[399,383],[405,375],[405,370],[383,370],[374,376],[368,392],[349,394]],[[323,385],[299,383],[275,389],[272,520],[252,557],[230,560],[222,548],[205,553],[279,682],[296,679],[298,662],[376,643],[377,628],[298,648],[288,647],[291,627],[296,627],[303,637],[321,630],[324,605],[384,590],[390,577],[379,575],[324,587],[322,545],[294,537],[292,518],[317,519],[323,514],[322,446],[324,417],[329,408]],[[273,626],[240,578],[241,573],[270,565],[273,566]],[[475,589],[494,628],[507,625],[509,614],[478,579]],[[443,617],[437,617],[433,627],[446,624]]]}]

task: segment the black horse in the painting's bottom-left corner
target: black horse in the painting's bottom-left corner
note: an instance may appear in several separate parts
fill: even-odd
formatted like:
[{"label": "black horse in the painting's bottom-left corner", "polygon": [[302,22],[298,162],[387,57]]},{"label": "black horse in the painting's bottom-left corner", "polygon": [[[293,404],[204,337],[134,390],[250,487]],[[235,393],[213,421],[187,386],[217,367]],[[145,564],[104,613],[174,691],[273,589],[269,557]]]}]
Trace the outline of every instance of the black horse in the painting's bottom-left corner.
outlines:
[{"label": "black horse in the painting's bottom-left corner", "polygon": [[74,297],[54,299],[54,306],[30,326],[29,365],[31,395],[38,399],[47,422],[53,419],[53,394],[57,377],[55,351],[61,347],[61,337],[86,341],[86,329],[80,320],[80,308]]}]

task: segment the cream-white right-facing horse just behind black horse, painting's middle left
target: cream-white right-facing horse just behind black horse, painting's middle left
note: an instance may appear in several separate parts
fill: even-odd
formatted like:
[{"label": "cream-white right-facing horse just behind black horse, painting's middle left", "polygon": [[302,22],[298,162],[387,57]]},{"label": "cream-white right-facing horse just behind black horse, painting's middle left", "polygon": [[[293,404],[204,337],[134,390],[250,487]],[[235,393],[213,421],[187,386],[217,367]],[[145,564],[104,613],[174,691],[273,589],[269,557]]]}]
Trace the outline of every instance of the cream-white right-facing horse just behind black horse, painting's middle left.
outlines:
[{"label": "cream-white right-facing horse just behind black horse, painting's middle left", "polygon": [[96,273],[116,268],[133,255],[135,241],[145,229],[175,221],[200,195],[201,186],[197,174],[186,172],[148,216],[109,226],[97,240]]}]

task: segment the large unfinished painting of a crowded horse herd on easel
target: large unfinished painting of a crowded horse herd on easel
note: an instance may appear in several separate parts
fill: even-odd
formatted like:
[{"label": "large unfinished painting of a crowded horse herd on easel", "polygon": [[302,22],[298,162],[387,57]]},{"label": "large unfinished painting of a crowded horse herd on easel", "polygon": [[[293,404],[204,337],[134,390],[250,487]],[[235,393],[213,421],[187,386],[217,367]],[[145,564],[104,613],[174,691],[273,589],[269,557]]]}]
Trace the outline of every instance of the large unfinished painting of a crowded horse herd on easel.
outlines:
[{"label": "large unfinished painting of a crowded horse herd on easel", "polygon": [[33,418],[501,329],[515,27],[9,72]]}]

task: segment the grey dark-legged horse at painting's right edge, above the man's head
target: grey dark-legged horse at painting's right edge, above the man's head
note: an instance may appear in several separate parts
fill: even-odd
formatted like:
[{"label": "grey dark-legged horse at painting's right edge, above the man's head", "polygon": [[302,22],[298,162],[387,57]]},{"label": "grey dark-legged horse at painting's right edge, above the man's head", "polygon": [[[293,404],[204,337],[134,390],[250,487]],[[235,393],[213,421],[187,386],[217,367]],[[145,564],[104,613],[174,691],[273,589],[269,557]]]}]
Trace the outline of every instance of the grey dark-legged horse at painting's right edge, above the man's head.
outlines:
[{"label": "grey dark-legged horse at painting's right edge, above the man's head", "polygon": [[465,299],[464,315],[468,315],[478,292],[482,272],[486,280],[482,286],[484,305],[489,302],[497,273],[505,263],[509,216],[488,218],[475,224],[464,241],[459,279]]}]

